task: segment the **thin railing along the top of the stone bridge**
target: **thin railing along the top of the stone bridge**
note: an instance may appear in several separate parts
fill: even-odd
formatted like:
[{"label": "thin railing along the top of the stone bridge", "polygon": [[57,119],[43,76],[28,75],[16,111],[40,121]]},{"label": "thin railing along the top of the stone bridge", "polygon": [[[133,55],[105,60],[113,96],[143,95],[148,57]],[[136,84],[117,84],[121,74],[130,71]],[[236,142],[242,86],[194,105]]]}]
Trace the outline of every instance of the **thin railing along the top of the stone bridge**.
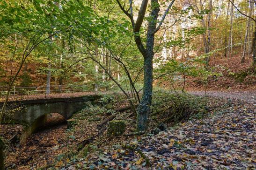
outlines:
[{"label": "thin railing along the top of the stone bridge", "polygon": [[[50,93],[46,89],[50,88]],[[0,86],[0,95],[7,94],[7,86]],[[89,85],[51,85],[51,86],[13,86],[10,95],[39,95],[39,94],[58,94],[58,93],[76,93],[76,92],[98,92],[107,91],[106,86],[98,84]]]}]

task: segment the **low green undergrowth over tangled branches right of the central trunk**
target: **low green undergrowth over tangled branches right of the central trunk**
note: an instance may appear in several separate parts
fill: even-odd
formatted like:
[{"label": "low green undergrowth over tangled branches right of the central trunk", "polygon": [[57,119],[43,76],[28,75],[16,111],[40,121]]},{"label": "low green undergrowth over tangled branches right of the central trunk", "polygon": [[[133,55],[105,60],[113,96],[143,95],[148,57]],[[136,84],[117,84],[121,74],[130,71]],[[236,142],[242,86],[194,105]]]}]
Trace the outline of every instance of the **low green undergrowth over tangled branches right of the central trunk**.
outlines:
[{"label": "low green undergrowth over tangled branches right of the central trunk", "polygon": [[155,91],[151,117],[161,122],[174,123],[188,120],[191,116],[202,118],[206,113],[205,103],[202,101],[202,97],[187,93]]}]

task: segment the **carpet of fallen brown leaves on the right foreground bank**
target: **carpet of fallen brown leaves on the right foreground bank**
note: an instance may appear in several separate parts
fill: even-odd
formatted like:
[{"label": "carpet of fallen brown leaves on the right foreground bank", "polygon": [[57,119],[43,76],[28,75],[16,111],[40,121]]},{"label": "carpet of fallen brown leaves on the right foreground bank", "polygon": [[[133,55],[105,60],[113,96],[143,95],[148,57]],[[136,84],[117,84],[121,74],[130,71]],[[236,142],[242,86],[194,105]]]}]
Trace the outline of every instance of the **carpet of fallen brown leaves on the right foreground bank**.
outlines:
[{"label": "carpet of fallen brown leaves on the right foreground bank", "polygon": [[[212,103],[218,102],[216,98]],[[219,100],[223,102],[223,100]],[[170,169],[253,170],[255,163],[255,106],[226,101],[204,120],[185,122],[156,136],[134,138],[95,150],[68,170]]]}]

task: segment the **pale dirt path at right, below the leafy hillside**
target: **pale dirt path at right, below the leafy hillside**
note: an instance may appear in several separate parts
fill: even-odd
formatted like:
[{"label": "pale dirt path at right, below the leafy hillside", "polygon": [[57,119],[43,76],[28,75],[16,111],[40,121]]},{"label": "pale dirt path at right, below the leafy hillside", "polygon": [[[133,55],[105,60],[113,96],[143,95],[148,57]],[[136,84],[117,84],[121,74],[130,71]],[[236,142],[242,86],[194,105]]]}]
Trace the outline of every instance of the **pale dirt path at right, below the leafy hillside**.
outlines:
[{"label": "pale dirt path at right, below the leafy hillside", "polygon": [[[193,95],[205,95],[205,91],[191,91]],[[207,96],[240,99],[246,102],[256,103],[256,91],[207,91]]]}]

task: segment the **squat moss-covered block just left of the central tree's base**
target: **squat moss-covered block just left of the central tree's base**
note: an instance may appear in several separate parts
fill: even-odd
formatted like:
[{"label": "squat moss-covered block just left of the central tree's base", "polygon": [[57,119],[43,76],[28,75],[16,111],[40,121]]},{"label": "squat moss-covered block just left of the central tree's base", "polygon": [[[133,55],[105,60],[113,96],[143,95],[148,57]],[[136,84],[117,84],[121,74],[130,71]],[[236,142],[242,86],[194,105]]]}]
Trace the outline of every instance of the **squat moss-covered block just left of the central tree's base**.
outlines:
[{"label": "squat moss-covered block just left of the central tree's base", "polygon": [[114,120],[109,122],[108,135],[123,135],[125,131],[125,122],[123,120]]}]

